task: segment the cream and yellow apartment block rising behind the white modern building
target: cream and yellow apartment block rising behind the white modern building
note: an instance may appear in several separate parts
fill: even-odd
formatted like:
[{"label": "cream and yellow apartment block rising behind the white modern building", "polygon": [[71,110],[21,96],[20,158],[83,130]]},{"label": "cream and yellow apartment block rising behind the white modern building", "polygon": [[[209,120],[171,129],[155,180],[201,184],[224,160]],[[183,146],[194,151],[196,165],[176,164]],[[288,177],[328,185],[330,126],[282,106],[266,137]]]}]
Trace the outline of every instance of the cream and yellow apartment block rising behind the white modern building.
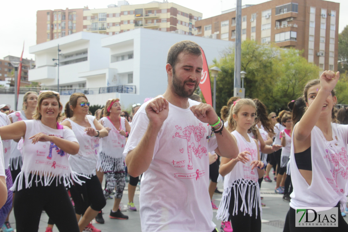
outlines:
[{"label": "cream and yellow apartment block rising behind the white modern building", "polygon": [[195,35],[195,23],[202,18],[202,13],[168,1],[137,5],[118,1],[118,5],[86,9],[83,14],[83,31],[108,35],[136,28]]}]

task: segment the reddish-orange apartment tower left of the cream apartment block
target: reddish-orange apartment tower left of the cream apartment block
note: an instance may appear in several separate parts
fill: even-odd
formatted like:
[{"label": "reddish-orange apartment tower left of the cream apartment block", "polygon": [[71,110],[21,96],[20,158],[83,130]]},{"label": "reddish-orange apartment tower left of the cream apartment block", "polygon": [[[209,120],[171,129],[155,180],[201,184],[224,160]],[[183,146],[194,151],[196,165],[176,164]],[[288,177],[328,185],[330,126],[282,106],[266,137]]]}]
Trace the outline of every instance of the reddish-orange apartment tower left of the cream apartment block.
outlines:
[{"label": "reddish-orange apartment tower left of the cream apartment block", "polygon": [[83,29],[83,11],[80,9],[38,10],[36,13],[36,44],[64,37]]}]

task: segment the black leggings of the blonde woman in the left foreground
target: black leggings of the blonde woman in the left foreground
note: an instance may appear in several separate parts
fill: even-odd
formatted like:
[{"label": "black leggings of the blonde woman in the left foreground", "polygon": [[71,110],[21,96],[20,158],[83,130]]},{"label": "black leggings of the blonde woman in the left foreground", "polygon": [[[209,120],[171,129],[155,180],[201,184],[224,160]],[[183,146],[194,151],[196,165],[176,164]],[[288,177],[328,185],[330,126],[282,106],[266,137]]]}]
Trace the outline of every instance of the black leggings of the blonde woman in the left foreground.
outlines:
[{"label": "black leggings of the blonde woman in the left foreground", "polygon": [[16,191],[13,204],[17,232],[38,231],[42,209],[56,223],[59,231],[80,231],[64,184],[56,186],[54,179],[50,186],[42,186],[40,182],[36,186],[35,181],[28,189],[24,181],[22,186],[22,190]]}]

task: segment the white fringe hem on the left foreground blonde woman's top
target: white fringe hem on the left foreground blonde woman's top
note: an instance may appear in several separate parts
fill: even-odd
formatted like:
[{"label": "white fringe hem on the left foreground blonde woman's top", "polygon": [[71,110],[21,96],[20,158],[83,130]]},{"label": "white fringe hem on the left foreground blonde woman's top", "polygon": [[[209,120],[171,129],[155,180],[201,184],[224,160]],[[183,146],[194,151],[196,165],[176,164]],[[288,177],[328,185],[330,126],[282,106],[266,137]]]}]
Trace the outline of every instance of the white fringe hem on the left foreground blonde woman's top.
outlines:
[{"label": "white fringe hem on the left foreground blonde woman's top", "polygon": [[[31,178],[29,179],[30,174],[31,174]],[[55,178],[56,178],[56,186],[58,186],[58,183],[61,184],[63,181],[64,186],[70,188],[71,185],[74,185],[74,183],[77,183],[79,185],[82,185],[82,183],[85,183],[85,181],[81,181],[78,178],[78,176],[86,177],[89,179],[89,177],[78,174],[75,171],[72,171],[70,174],[57,175],[57,174],[52,174],[49,171],[42,171],[42,170],[35,170],[31,172],[30,171],[24,172],[23,170],[21,170],[21,172],[18,174],[15,181],[13,182],[13,186],[10,188],[10,190],[11,191],[22,190],[23,181],[25,182],[26,189],[32,186],[33,181],[36,183],[36,186],[38,185],[38,183],[41,183],[42,186],[50,186]],[[34,177],[36,178],[34,179]]]}]

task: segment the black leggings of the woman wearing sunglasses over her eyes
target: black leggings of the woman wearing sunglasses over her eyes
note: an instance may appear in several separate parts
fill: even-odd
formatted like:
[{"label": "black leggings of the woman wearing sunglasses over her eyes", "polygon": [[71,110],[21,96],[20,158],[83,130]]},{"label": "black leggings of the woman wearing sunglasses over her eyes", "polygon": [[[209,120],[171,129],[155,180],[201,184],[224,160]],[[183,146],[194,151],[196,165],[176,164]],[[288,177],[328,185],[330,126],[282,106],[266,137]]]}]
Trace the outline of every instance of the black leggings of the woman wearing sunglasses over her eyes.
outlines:
[{"label": "black leggings of the woman wearing sunglasses over her eyes", "polygon": [[[86,183],[82,183],[82,185],[75,184],[69,189],[75,203],[76,214],[84,215],[89,206],[95,211],[102,210],[106,205],[106,200],[98,177],[92,176],[87,179],[79,176],[79,179]],[[53,221],[55,222],[54,219]]]}]

